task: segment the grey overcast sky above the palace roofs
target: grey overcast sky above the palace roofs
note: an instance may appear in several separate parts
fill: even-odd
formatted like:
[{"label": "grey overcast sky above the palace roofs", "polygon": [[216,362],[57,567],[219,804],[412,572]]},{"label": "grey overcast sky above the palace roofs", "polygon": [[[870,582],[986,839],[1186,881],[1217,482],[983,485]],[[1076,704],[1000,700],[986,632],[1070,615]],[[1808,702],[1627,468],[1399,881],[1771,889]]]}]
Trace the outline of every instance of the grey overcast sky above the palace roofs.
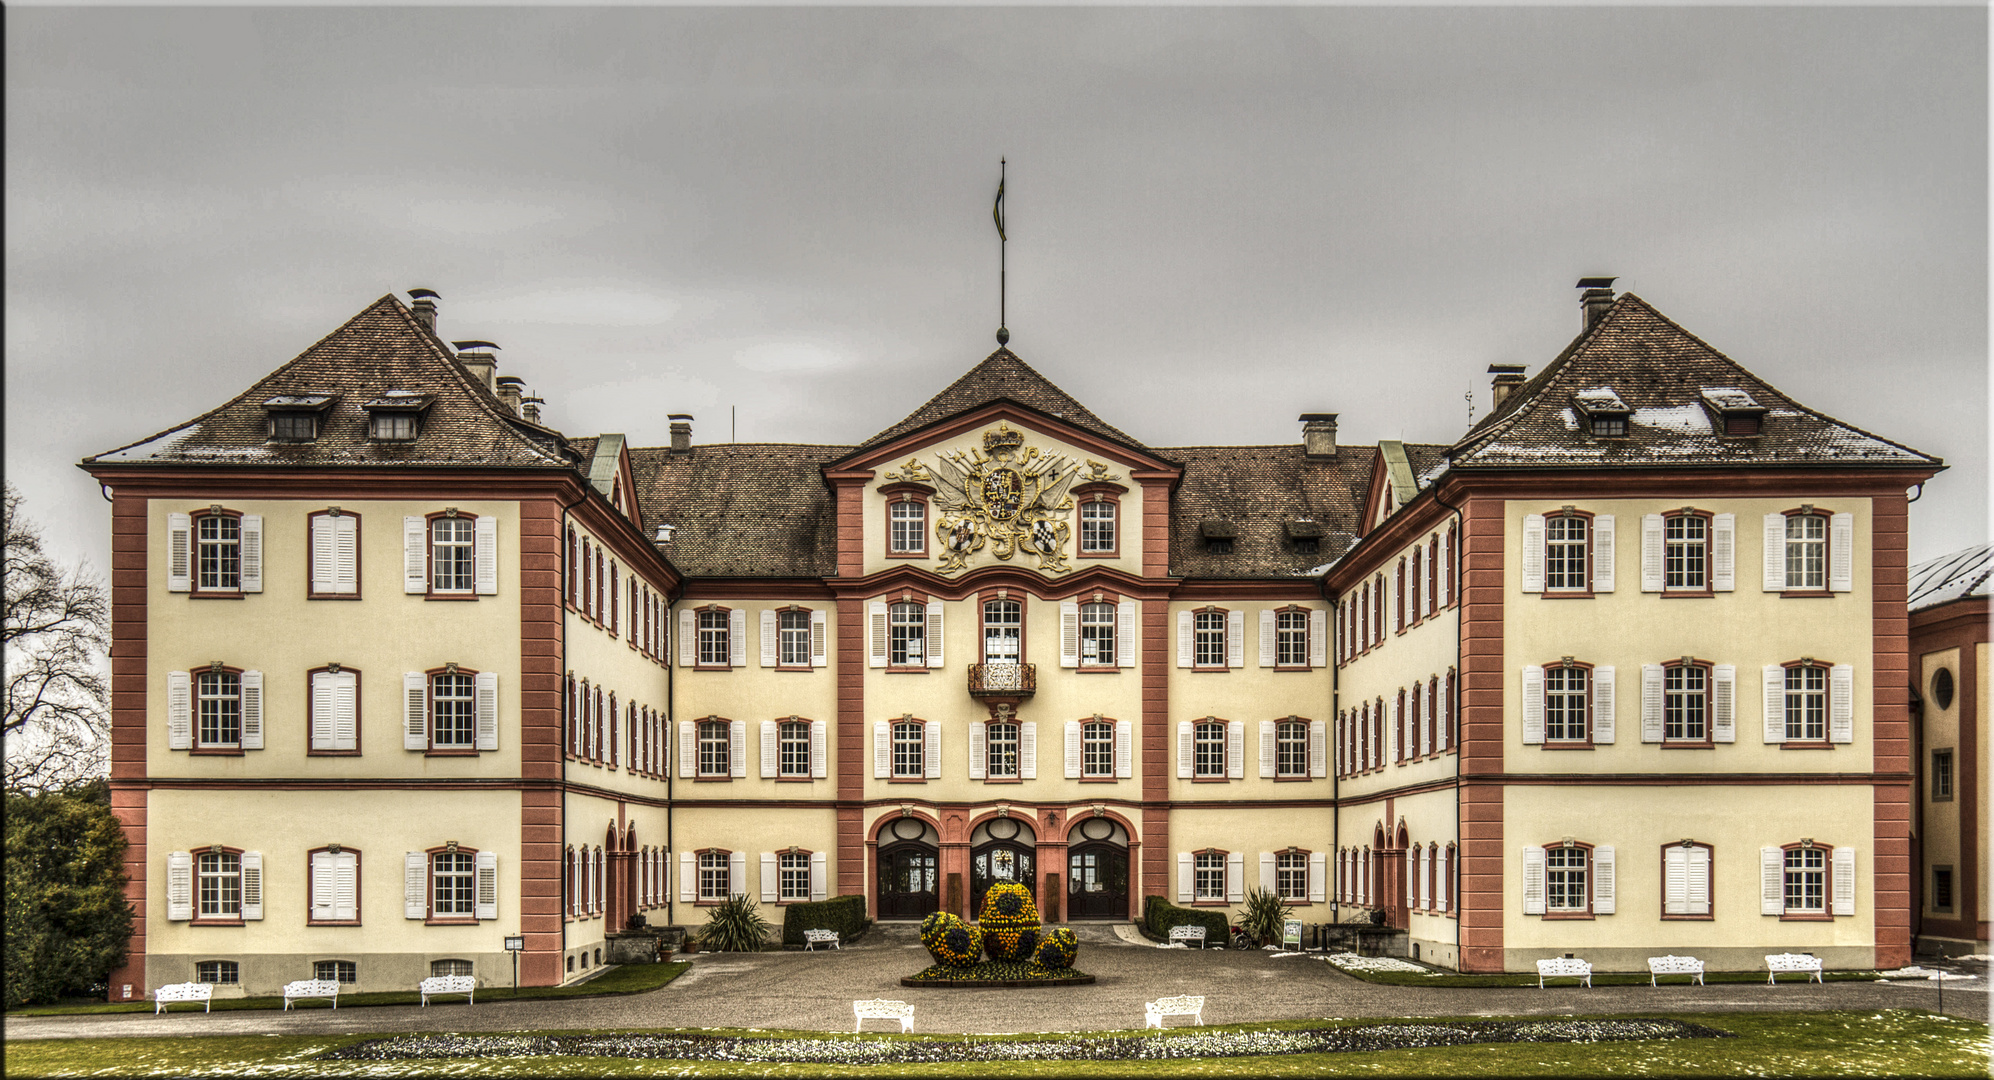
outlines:
[{"label": "grey overcast sky above the palace roofs", "polygon": [[568,434],[857,442],[1011,347],[1157,444],[1452,442],[1619,275],[1952,466],[1984,540],[1988,14],[1960,8],[6,8],[6,472],[74,462],[373,299]]}]

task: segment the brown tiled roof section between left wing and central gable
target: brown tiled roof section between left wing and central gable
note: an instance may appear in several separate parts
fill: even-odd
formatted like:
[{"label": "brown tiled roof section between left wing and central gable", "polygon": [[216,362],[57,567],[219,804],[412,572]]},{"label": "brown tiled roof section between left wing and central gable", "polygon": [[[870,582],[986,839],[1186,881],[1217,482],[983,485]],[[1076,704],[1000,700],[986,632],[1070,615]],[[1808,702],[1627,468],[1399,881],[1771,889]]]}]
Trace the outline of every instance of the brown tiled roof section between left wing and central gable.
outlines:
[{"label": "brown tiled roof section between left wing and central gable", "polygon": [[822,466],[855,446],[726,442],[630,450],[650,528],[674,526],[664,558],[692,578],[830,578],[837,520]]}]

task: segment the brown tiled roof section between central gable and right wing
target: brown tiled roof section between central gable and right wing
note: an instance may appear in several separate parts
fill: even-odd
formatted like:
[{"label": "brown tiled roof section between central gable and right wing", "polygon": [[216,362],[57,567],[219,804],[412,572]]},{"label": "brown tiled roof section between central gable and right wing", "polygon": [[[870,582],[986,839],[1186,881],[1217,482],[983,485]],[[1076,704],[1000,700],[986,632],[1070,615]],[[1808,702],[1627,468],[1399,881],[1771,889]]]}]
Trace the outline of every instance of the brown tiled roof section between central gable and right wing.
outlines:
[{"label": "brown tiled roof section between central gable and right wing", "polygon": [[[1370,446],[1342,446],[1310,460],[1302,446],[1159,446],[1182,462],[1170,508],[1170,574],[1180,578],[1288,578],[1318,574],[1356,542],[1364,492],[1378,460]],[[1320,550],[1300,554],[1282,522],[1322,524]],[[1210,554],[1198,522],[1234,526],[1230,554]]]}]

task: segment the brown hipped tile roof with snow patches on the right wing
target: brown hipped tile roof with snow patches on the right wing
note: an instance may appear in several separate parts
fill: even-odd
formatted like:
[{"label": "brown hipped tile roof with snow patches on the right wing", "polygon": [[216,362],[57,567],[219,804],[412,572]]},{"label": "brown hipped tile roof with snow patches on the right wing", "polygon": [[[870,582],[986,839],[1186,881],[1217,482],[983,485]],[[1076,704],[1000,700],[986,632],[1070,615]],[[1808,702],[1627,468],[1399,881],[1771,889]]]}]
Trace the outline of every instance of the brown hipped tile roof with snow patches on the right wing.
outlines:
[{"label": "brown hipped tile roof with snow patches on the right wing", "polygon": [[[1627,434],[1593,438],[1573,408],[1579,393],[1611,389],[1631,414]],[[1761,434],[1727,438],[1705,408],[1749,395],[1765,408]],[[1930,454],[1844,424],[1779,393],[1633,293],[1511,391],[1448,452],[1474,466],[1940,466]]]}]

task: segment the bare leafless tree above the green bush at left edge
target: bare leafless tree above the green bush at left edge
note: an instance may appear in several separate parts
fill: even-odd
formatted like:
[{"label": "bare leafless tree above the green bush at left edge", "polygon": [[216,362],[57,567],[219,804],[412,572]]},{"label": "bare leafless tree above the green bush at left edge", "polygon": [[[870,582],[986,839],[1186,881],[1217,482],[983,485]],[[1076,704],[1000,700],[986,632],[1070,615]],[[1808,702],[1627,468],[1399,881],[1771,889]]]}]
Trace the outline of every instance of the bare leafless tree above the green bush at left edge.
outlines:
[{"label": "bare leafless tree above the green bush at left edge", "polygon": [[6,787],[46,791],[110,761],[110,600],[88,564],[56,566],[6,484]]}]

